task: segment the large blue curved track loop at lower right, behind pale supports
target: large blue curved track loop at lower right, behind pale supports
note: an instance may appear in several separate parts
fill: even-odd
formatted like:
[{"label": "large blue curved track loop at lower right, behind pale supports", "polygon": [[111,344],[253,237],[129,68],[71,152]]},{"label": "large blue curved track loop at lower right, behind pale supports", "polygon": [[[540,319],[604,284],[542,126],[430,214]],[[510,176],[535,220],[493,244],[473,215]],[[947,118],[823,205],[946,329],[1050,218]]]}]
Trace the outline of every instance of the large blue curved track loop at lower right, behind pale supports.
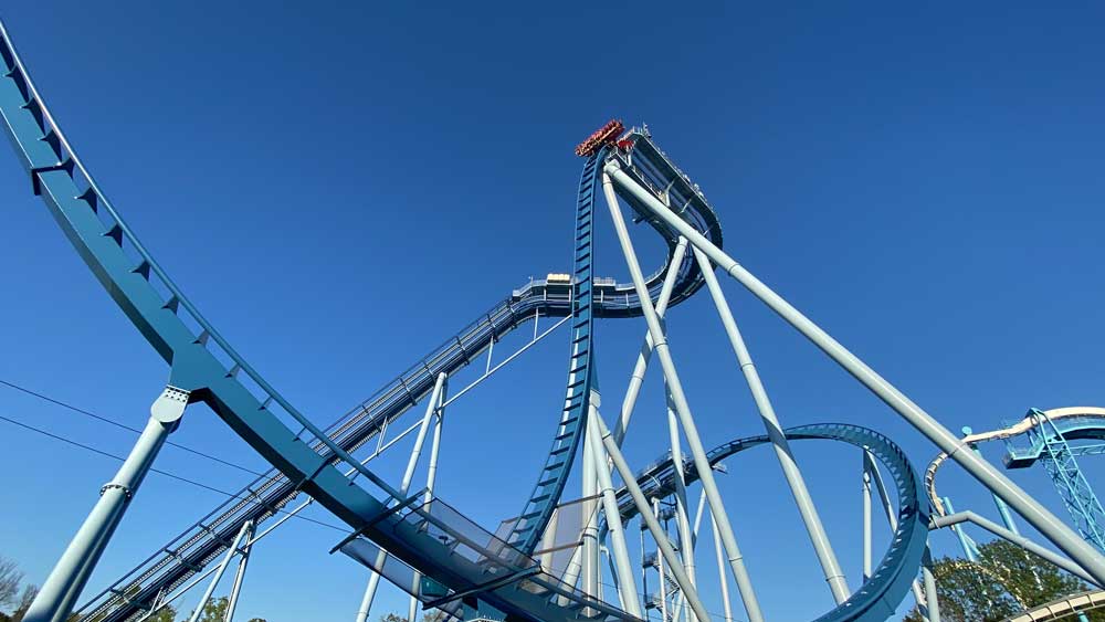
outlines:
[{"label": "large blue curved track loop at lower right, behind pale supports", "polygon": [[[909,591],[909,586],[920,566],[928,538],[928,513],[920,499],[920,479],[909,464],[905,452],[888,437],[860,425],[845,423],[815,423],[783,430],[787,439],[840,441],[870,451],[890,472],[897,489],[898,526],[891,537],[891,546],[878,567],[860,589],[835,609],[815,622],[883,622]],[[749,436],[719,445],[707,454],[709,464],[751,447],[769,444],[768,436]],[[684,465],[690,484],[698,479],[693,461]],[[645,497],[666,497],[675,493],[675,467],[671,456],[654,462],[638,474],[638,484]],[[618,492],[618,506],[623,520],[636,516],[636,506],[625,488]]]}]

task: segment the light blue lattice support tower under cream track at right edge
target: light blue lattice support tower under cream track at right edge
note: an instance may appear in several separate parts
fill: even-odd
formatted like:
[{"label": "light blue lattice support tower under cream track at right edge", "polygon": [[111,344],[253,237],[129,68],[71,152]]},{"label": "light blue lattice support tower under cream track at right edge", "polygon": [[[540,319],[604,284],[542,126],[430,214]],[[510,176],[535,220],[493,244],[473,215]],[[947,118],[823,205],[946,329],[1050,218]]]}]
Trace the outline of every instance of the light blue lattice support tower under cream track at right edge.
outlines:
[{"label": "light blue lattice support tower under cream track at right edge", "polygon": [[1072,446],[1070,443],[1078,439],[1105,439],[1105,418],[1086,414],[1055,420],[1040,409],[1029,410],[1028,417],[1036,422],[1025,434],[1029,445],[1018,447],[1012,437],[1007,439],[1006,467],[1023,468],[1036,461],[1042,462],[1078,533],[1086,541],[1105,551],[1105,508],[1102,508],[1075,457],[1097,455],[1105,444]]}]

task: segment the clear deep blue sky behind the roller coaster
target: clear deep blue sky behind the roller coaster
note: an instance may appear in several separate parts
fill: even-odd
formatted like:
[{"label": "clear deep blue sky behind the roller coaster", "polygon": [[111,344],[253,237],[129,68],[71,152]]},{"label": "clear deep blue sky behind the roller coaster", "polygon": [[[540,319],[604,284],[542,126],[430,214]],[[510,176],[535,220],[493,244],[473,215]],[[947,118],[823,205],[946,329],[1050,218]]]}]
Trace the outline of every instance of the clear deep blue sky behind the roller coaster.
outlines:
[{"label": "clear deep blue sky behind the roller coaster", "polygon": [[[1105,403],[1105,10],[1041,9],[119,1],[24,2],[3,18],[147,246],[320,423],[530,275],[567,267],[571,148],[619,116],[646,122],[702,186],[746,266],[948,426],[982,430],[1029,407]],[[165,365],[10,155],[0,191],[0,378],[140,425]],[[597,272],[624,280],[603,235]],[[638,232],[648,266],[659,261],[651,238]],[[924,467],[930,445],[727,287],[786,424],[870,425]],[[643,328],[599,327],[608,404],[620,402]],[[708,301],[673,310],[670,328],[706,444],[760,433]],[[439,491],[486,526],[518,512],[537,474],[566,338],[449,413]],[[651,373],[631,433],[638,465],[666,439],[657,381]],[[0,413],[117,453],[133,441],[7,389]],[[41,581],[117,464],[0,430],[0,555]],[[265,466],[203,408],[175,440]],[[859,456],[798,451],[854,587]],[[986,454],[998,461],[1001,447]],[[381,472],[397,476],[396,462]],[[173,449],[159,466],[225,489],[249,478]],[[769,618],[828,610],[774,458],[754,452],[729,470],[730,513]],[[1013,475],[1065,516],[1042,472]],[[960,507],[993,515],[955,467],[944,476]],[[220,500],[150,476],[90,589]],[[366,572],[327,555],[340,537],[293,521],[265,541],[242,613],[351,620]],[[935,536],[938,552],[953,545]],[[404,607],[393,589],[381,599]]]}]

